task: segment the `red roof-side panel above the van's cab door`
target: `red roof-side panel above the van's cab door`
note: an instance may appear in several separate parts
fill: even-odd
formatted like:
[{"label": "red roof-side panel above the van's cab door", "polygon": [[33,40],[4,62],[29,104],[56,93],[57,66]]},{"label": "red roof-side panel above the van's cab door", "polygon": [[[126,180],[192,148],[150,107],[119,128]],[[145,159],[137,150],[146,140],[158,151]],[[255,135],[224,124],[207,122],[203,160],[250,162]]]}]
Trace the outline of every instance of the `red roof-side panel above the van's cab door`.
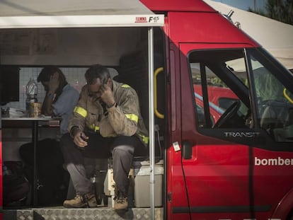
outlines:
[{"label": "red roof-side panel above the van's cab door", "polygon": [[[232,47],[232,44],[237,43],[242,44],[243,47],[259,47],[257,42],[248,35],[243,35],[239,28],[236,28],[233,23],[227,22],[224,16],[204,1],[141,1],[151,11],[168,11],[166,34],[171,42],[230,43]],[[206,46],[202,48],[211,48],[211,46]],[[218,45],[218,47],[220,46]],[[236,47],[239,46],[241,45]],[[222,47],[227,47],[227,45],[222,45]],[[200,49],[200,45],[198,48]]]}]

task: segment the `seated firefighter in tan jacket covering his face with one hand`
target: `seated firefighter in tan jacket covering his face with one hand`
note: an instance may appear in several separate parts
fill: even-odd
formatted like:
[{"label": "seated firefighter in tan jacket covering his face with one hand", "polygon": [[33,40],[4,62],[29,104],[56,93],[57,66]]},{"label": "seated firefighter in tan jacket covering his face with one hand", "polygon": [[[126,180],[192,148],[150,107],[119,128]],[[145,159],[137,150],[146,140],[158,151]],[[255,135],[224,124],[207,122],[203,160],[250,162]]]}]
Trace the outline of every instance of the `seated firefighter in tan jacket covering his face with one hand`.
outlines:
[{"label": "seated firefighter in tan jacket covering his face with one hand", "polygon": [[67,208],[96,207],[85,158],[113,158],[115,209],[127,209],[128,175],[134,150],[145,151],[149,141],[139,110],[137,93],[110,78],[108,68],[95,64],[86,71],[86,86],[69,120],[69,134],[61,139],[67,170],[76,190]]}]

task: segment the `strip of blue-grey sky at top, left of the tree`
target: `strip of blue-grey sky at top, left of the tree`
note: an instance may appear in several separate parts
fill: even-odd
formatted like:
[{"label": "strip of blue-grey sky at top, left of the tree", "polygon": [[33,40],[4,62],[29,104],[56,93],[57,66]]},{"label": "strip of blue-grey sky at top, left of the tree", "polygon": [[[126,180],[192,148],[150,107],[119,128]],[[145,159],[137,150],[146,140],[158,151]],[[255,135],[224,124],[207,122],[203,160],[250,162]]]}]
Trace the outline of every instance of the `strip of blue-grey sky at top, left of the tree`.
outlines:
[{"label": "strip of blue-grey sky at top, left of the tree", "polygon": [[[243,10],[247,10],[249,7],[258,10],[261,8],[265,10],[265,0],[212,0],[212,1],[219,1],[224,4],[228,4],[235,8],[240,8]],[[255,6],[254,6],[255,2]]]}]

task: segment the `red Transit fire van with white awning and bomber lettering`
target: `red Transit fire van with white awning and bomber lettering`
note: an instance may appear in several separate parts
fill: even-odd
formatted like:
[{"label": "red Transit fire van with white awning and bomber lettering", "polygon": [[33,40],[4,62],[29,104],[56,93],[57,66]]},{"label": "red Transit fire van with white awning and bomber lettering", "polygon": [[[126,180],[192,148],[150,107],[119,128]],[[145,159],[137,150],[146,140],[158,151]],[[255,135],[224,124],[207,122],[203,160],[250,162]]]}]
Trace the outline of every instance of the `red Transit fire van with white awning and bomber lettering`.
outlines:
[{"label": "red Transit fire van with white awning and bomber lettering", "polygon": [[[258,42],[201,0],[25,2],[0,3],[1,65],[98,62],[139,95],[149,157],[125,218],[293,219],[293,75]],[[233,94],[214,122],[212,84]]]}]

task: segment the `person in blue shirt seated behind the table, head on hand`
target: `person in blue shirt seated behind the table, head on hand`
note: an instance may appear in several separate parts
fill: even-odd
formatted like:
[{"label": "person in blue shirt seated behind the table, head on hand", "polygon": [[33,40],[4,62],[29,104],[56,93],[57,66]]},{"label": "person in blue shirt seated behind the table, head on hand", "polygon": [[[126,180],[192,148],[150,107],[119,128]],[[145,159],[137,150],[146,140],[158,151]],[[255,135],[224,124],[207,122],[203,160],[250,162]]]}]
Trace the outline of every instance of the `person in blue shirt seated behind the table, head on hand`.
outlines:
[{"label": "person in blue shirt seated behind the table, head on hand", "polygon": [[[61,117],[56,138],[45,138],[37,144],[38,204],[62,204],[67,195],[69,175],[63,168],[59,139],[67,133],[69,117],[79,100],[79,91],[67,83],[64,74],[56,66],[43,68],[37,81],[42,83],[46,91],[42,115]],[[19,154],[25,163],[30,183],[33,183],[33,152],[33,143],[20,146]]]}]

